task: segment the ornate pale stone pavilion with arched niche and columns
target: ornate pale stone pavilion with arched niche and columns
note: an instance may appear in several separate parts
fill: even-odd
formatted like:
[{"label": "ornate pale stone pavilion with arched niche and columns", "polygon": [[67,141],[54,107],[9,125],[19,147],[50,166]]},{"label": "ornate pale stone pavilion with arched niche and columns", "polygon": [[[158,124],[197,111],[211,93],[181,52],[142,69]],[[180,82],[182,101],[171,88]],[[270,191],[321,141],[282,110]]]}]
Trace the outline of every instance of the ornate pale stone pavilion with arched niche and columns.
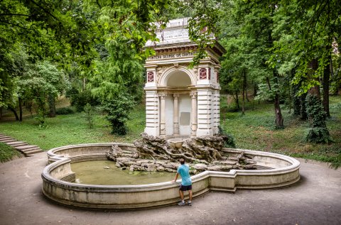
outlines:
[{"label": "ornate pale stone pavilion with arched niche and columns", "polygon": [[188,37],[188,19],[169,21],[158,31],[160,42],[149,41],[156,55],[146,60],[146,128],[152,136],[185,138],[214,136],[220,124],[220,63],[224,48],[206,50],[207,57],[193,69],[196,44]]}]

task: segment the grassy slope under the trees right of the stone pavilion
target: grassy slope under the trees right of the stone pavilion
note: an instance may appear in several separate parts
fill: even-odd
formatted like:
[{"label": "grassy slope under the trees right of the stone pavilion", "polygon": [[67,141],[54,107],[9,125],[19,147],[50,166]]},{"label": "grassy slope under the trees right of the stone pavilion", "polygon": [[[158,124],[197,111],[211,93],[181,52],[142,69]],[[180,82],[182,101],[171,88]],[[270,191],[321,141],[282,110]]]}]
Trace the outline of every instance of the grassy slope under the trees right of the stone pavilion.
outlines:
[{"label": "grassy slope under the trees right of the stone pavilion", "polygon": [[327,126],[335,141],[330,145],[304,143],[308,121],[301,121],[289,114],[284,106],[281,106],[283,129],[274,127],[272,104],[257,102],[254,106],[251,110],[251,102],[247,103],[244,116],[240,112],[231,112],[228,106],[224,106],[221,112],[222,127],[234,136],[237,148],[265,150],[331,163],[332,167],[341,166],[341,97],[330,98],[331,118],[327,120]]}]

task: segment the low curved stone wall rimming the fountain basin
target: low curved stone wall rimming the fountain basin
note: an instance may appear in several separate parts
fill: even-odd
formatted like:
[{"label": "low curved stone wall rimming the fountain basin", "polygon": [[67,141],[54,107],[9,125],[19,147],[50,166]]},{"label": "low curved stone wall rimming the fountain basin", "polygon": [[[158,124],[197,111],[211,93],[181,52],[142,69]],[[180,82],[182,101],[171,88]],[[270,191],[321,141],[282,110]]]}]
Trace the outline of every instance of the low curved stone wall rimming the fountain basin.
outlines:
[{"label": "low curved stone wall rimming the fountain basin", "polygon": [[[62,204],[97,209],[139,209],[179,201],[180,182],[150,185],[84,185],[65,181],[72,180],[74,176],[70,163],[105,159],[105,152],[113,144],[124,150],[134,150],[133,145],[123,143],[83,144],[49,150],[50,165],[42,173],[43,194]],[[294,158],[254,150],[224,148],[224,152],[231,155],[239,154],[241,151],[252,155],[257,165],[274,169],[202,172],[192,177],[193,197],[209,190],[235,192],[238,188],[284,187],[300,179],[300,163]]]}]

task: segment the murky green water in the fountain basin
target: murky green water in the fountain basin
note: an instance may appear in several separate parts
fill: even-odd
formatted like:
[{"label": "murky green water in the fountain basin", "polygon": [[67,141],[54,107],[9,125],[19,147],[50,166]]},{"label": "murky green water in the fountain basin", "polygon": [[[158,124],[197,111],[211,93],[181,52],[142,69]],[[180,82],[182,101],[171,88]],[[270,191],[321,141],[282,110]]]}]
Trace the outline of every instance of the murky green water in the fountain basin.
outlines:
[{"label": "murky green water in the fountain basin", "polygon": [[[76,182],[87,185],[146,185],[174,180],[175,172],[131,172],[109,160],[72,163]],[[109,168],[109,169],[105,169]]]}]

